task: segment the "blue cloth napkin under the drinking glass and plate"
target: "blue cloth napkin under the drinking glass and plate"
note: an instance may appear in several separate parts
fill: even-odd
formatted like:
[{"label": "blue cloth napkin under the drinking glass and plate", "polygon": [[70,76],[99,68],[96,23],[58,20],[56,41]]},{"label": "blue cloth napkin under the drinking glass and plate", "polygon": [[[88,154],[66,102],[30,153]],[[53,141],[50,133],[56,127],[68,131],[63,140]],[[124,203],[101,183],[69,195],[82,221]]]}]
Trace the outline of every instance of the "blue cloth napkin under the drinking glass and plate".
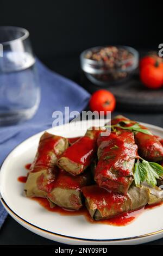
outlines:
[{"label": "blue cloth napkin under the drinking glass and plate", "polygon": [[[78,84],[49,70],[36,60],[41,88],[41,102],[34,117],[24,123],[0,127],[0,164],[5,156],[24,139],[52,127],[54,111],[64,114],[65,106],[71,111],[81,112],[89,101],[90,94]],[[0,228],[7,217],[0,202]]]}]

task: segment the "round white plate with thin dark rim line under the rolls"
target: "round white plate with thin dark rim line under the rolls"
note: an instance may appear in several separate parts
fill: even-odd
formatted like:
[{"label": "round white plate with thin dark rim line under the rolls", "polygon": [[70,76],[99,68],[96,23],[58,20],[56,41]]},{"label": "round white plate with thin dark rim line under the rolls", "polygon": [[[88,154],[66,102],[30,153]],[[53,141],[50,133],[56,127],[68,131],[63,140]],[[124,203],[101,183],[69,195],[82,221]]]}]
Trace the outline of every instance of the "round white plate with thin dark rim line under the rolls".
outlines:
[{"label": "round white plate with thin dark rim line under the rolls", "polygon": [[[163,138],[163,129],[145,124],[155,135]],[[89,126],[89,124],[88,124]],[[66,124],[67,127],[67,124]],[[86,127],[76,131],[64,126],[48,132],[65,137],[78,137]],[[25,228],[48,239],[71,245],[135,245],[163,237],[163,205],[143,212],[136,220],[124,227],[106,224],[91,224],[84,216],[62,216],[44,209],[37,202],[26,198],[24,184],[18,176],[26,175],[24,165],[33,161],[41,133],[18,145],[5,159],[0,173],[2,203],[9,214]]]}]

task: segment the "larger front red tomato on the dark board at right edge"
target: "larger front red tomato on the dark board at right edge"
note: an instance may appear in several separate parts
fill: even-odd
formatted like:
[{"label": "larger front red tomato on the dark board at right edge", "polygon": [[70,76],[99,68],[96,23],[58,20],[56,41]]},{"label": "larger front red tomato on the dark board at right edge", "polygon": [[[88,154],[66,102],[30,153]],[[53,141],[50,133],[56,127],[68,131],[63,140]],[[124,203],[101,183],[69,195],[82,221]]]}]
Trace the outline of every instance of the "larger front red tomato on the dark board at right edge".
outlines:
[{"label": "larger front red tomato on the dark board at right edge", "polygon": [[163,65],[145,65],[140,70],[140,78],[146,87],[158,89],[163,84]]}]

